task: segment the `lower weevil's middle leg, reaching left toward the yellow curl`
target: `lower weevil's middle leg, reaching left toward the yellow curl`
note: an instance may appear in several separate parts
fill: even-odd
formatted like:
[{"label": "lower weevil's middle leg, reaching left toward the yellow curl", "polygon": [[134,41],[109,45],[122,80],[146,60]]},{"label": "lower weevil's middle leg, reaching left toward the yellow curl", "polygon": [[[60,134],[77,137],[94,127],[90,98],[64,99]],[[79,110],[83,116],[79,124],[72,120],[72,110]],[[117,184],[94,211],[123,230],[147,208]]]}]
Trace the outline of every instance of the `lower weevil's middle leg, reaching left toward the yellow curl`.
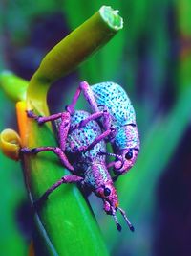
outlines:
[{"label": "lower weevil's middle leg, reaching left toward the yellow curl", "polygon": [[58,147],[39,147],[39,148],[22,148],[20,150],[21,153],[29,153],[29,154],[36,154],[39,152],[44,151],[53,151],[58,158],[60,159],[61,163],[70,171],[74,172],[74,167],[69,163],[68,158],[66,157],[65,153]]}]

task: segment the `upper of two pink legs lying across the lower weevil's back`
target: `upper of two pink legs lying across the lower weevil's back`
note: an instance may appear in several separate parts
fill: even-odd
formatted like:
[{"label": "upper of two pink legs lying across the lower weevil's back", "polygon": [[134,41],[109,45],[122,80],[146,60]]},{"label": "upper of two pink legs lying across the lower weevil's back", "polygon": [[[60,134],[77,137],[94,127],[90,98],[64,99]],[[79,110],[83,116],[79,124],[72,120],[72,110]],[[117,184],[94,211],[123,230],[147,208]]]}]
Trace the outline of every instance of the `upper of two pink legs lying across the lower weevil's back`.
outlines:
[{"label": "upper of two pink legs lying across the lower weevil's back", "polygon": [[93,120],[96,120],[100,117],[104,117],[105,118],[105,123],[107,123],[107,129],[109,129],[111,126],[111,117],[110,117],[110,114],[107,112],[107,111],[102,111],[102,112],[96,112],[92,115],[90,115],[89,117],[83,119],[82,121],[80,121],[78,124],[76,125],[72,125],[71,128],[70,128],[70,131],[73,131],[74,129],[77,129],[77,128],[83,128],[85,127],[90,121],[93,121]]}]

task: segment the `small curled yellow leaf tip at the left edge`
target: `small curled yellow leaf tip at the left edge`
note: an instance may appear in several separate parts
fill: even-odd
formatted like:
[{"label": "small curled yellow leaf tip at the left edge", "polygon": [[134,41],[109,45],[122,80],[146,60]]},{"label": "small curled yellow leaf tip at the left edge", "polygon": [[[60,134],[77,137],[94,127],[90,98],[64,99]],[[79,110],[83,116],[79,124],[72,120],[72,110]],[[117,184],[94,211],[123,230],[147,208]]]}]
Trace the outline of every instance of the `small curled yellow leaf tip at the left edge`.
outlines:
[{"label": "small curled yellow leaf tip at the left edge", "polygon": [[19,160],[19,149],[21,148],[21,140],[18,133],[6,128],[0,134],[0,148],[3,153],[12,160]]}]

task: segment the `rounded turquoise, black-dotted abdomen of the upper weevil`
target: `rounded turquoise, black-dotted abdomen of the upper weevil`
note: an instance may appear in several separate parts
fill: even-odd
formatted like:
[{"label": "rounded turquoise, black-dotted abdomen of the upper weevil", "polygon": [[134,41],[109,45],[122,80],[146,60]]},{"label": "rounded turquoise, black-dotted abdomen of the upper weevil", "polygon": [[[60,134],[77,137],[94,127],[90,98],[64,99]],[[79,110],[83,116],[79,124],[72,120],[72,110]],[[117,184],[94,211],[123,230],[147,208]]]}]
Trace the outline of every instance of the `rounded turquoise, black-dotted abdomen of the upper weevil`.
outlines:
[{"label": "rounded turquoise, black-dotted abdomen of the upper weevil", "polygon": [[[91,86],[96,98],[99,110],[106,107],[112,116],[112,125],[120,128],[127,124],[136,123],[136,115],[133,105],[125,90],[115,82],[101,82]],[[95,110],[95,109],[94,109]]]}]

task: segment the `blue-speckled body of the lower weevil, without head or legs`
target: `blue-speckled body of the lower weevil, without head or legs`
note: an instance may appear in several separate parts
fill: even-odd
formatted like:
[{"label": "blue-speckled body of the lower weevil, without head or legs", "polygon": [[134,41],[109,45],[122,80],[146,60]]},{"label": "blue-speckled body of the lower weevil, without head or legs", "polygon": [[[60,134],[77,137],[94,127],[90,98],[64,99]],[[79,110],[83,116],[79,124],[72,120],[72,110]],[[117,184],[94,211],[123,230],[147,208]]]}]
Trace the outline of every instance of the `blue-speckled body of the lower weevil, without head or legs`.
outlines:
[{"label": "blue-speckled body of the lower weevil, without head or legs", "polygon": [[[71,129],[90,114],[83,110],[77,110],[71,116]],[[60,120],[55,121],[56,126]],[[76,173],[84,176],[84,182],[95,189],[106,182],[112,183],[105,164],[105,155],[98,155],[100,151],[106,151],[105,142],[102,140],[90,151],[82,151],[77,154],[74,150],[91,144],[101,134],[101,128],[96,121],[90,121],[85,127],[76,128],[69,132],[66,142],[66,154],[74,166]]]}]

